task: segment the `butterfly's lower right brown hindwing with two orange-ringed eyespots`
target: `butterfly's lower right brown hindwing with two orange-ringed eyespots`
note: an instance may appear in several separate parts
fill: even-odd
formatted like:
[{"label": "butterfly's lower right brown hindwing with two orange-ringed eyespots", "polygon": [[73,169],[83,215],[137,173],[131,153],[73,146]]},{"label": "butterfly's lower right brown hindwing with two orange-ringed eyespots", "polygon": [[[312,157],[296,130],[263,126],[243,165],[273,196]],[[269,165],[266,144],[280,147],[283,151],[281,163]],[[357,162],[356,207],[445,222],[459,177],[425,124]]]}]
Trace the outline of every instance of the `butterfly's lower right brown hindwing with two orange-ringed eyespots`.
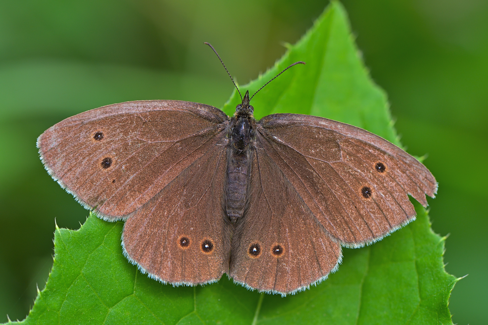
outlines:
[{"label": "butterfly's lower right brown hindwing with two orange-ringed eyespots", "polygon": [[260,134],[244,215],[232,238],[229,275],[258,290],[290,293],[325,279],[341,259],[305,202],[263,149]]}]

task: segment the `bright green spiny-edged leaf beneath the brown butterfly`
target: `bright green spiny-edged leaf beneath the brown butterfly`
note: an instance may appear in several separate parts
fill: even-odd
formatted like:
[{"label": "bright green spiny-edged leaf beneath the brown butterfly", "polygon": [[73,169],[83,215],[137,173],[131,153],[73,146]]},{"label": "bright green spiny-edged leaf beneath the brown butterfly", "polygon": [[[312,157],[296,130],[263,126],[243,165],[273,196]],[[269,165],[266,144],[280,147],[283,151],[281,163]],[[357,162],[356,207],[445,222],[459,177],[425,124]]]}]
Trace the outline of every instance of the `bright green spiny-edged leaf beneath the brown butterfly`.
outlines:
[{"label": "bright green spiny-edged leaf beneath the brown butterfly", "polygon": [[[398,143],[386,96],[370,80],[343,7],[333,2],[298,44],[264,76],[241,88],[256,91],[257,117],[277,112],[321,115]],[[224,105],[232,114],[233,94]],[[56,229],[54,265],[23,324],[452,324],[447,308],[457,279],[444,271],[444,239],[426,210],[382,241],[344,249],[329,279],[282,298],[235,285],[225,276],[204,287],[162,285],[122,255],[122,222],[90,214],[79,230]]]}]

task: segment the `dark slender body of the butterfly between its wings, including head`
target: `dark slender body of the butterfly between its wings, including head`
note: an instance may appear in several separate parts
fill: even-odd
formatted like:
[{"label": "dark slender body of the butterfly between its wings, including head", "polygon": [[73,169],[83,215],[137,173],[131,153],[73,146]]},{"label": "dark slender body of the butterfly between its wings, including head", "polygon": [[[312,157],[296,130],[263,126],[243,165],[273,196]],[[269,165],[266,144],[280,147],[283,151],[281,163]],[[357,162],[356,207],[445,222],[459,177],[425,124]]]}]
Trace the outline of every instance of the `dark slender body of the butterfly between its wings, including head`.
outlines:
[{"label": "dark slender body of the butterfly between its wings, including head", "polygon": [[243,103],[236,107],[236,113],[229,123],[225,210],[233,223],[244,213],[250,155],[256,137],[256,120],[252,113],[253,107],[249,105],[249,96],[246,93]]}]

